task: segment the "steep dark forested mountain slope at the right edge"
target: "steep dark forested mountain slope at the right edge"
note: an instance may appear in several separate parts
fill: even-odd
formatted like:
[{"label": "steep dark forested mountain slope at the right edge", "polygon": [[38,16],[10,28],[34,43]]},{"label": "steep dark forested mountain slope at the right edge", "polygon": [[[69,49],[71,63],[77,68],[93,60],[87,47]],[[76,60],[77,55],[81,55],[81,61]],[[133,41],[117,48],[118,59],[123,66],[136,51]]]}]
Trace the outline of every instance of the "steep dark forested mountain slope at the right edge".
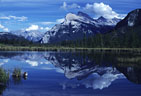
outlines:
[{"label": "steep dark forested mountain slope at the right edge", "polygon": [[[131,11],[113,30],[96,35],[89,43],[92,47],[140,48],[141,9]],[[88,41],[87,41],[88,42]],[[95,45],[94,45],[95,44]]]}]

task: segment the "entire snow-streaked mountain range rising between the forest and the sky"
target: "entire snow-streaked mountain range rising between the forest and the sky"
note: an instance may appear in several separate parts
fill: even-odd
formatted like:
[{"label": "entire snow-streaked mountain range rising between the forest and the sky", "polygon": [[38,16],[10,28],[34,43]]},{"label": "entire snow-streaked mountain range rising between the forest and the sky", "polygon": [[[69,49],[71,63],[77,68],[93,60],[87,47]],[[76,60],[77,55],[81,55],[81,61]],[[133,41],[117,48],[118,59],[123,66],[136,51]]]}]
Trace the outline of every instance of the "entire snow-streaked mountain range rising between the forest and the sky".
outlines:
[{"label": "entire snow-streaked mountain range rising between the forest and the sky", "polygon": [[[62,23],[56,24],[45,33],[23,30],[11,31],[5,34],[1,32],[0,39],[9,40],[6,35],[11,35],[10,38],[16,36],[16,38],[22,38],[22,40],[25,38],[32,42],[53,44],[63,41],[81,42],[85,38],[93,41],[87,41],[89,43],[99,43],[98,47],[123,47],[124,45],[140,47],[140,17],[141,9],[131,11],[123,20],[119,18],[106,19],[102,16],[98,19],[93,19],[83,12],[78,12],[77,14],[68,13]],[[90,39],[91,37],[92,39]]]}]

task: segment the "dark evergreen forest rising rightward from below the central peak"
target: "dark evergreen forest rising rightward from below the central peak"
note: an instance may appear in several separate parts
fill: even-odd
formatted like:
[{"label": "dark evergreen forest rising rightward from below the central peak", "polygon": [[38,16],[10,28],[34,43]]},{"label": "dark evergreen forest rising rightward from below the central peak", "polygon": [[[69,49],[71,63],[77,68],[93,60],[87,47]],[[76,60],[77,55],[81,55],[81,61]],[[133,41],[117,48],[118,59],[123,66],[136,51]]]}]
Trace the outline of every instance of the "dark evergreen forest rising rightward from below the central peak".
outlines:
[{"label": "dark evergreen forest rising rightward from below the central peak", "polygon": [[126,27],[112,30],[105,34],[96,34],[86,37],[83,40],[63,41],[56,45],[66,47],[88,47],[88,48],[140,48],[141,47],[141,26]]}]

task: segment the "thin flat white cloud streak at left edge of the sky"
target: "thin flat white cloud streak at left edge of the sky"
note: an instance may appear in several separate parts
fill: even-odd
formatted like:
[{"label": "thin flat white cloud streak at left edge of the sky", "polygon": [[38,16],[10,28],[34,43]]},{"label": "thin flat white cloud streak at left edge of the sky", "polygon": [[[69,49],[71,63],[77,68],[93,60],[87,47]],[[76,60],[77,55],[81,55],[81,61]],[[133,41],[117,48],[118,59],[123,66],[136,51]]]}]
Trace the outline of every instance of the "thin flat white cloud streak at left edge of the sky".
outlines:
[{"label": "thin flat white cloud streak at left edge of the sky", "polygon": [[17,17],[17,16],[1,16],[0,19],[5,19],[5,20],[17,20],[17,21],[26,21],[28,18],[25,16]]}]

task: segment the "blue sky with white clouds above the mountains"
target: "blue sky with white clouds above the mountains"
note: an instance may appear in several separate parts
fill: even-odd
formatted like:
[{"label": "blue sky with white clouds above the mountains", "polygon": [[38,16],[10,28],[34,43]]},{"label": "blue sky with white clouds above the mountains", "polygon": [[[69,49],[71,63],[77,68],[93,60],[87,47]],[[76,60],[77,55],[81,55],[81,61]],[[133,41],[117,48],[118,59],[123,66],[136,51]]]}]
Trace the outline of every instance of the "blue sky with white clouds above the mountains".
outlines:
[{"label": "blue sky with white clouds above the mountains", "polygon": [[82,11],[92,18],[124,18],[141,8],[141,0],[0,0],[0,31],[45,32],[67,13]]}]

